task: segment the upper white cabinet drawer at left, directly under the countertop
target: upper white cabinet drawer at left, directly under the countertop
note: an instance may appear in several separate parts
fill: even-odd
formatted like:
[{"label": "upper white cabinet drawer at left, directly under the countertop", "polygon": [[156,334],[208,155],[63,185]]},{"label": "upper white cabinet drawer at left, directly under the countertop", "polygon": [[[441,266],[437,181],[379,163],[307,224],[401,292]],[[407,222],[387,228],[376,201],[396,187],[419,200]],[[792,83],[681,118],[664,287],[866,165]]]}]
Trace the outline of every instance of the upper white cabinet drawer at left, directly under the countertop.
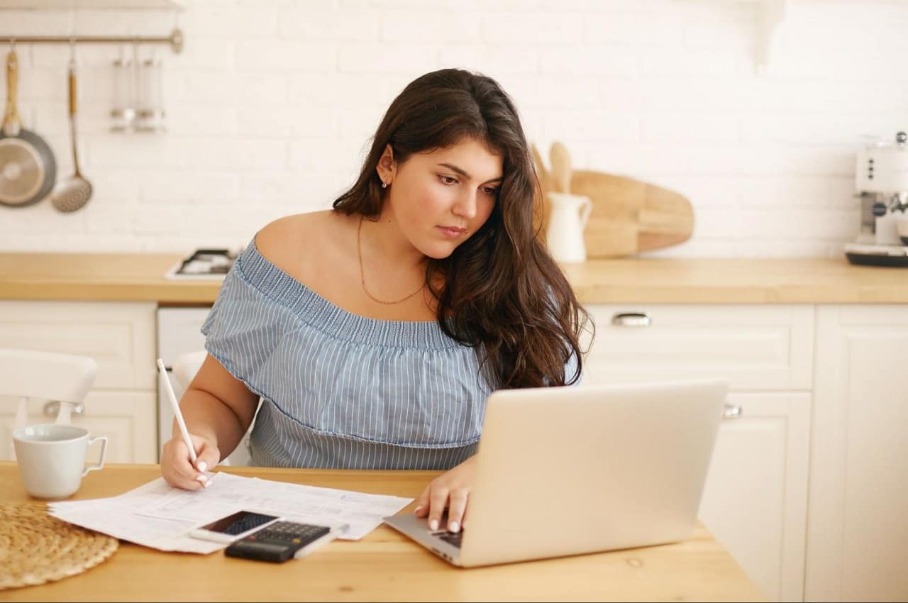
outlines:
[{"label": "upper white cabinet drawer at left, directly under the countertop", "polygon": [[91,356],[94,389],[153,390],[153,303],[0,301],[0,347]]}]

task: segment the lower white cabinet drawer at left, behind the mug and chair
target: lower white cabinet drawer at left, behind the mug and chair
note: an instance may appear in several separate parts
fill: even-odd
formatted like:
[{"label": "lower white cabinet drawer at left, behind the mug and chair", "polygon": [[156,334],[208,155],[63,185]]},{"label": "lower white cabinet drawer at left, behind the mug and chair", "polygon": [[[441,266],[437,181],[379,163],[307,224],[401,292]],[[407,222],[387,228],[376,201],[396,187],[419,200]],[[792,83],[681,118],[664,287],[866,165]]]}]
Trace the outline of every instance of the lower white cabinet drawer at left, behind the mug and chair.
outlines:
[{"label": "lower white cabinet drawer at left, behind the mug and chair", "polygon": [[[13,427],[18,398],[0,396],[0,460],[13,459]],[[56,415],[44,411],[49,400],[28,400],[26,424],[53,423]],[[49,411],[48,411],[49,412]],[[93,436],[107,436],[105,462],[158,462],[157,400],[152,391],[90,391],[84,412],[74,414],[72,423]],[[98,448],[88,451],[97,459]]]}]

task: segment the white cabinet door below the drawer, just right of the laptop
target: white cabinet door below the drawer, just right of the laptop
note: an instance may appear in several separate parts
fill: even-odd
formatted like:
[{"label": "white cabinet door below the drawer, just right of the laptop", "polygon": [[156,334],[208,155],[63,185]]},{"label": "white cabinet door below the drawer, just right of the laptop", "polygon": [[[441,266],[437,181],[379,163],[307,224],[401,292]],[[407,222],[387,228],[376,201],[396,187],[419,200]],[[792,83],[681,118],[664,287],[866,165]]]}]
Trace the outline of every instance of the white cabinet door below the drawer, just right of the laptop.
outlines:
[{"label": "white cabinet door below the drawer, just right of the laptop", "polygon": [[811,397],[731,393],[700,519],[768,598],[802,600]]}]

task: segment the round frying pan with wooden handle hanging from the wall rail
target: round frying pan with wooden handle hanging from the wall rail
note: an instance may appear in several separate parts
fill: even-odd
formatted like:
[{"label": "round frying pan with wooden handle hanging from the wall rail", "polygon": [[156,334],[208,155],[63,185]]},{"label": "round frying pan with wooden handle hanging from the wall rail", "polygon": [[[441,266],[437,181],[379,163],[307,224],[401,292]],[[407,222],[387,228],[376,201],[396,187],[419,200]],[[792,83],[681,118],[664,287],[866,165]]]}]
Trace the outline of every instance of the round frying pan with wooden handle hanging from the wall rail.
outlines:
[{"label": "round frying pan with wooden handle hanging from the wall rail", "polygon": [[15,106],[19,60],[6,57],[6,112],[0,127],[0,203],[21,207],[44,199],[54,187],[54,153],[41,136],[22,127]]}]

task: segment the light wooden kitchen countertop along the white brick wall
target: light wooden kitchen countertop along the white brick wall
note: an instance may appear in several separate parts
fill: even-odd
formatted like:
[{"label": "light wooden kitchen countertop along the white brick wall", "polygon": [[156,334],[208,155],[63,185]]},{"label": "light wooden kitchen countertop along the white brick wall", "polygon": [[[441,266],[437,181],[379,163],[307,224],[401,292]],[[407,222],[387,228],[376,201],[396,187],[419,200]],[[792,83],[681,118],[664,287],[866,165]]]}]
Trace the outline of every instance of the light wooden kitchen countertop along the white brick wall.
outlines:
[{"label": "light wooden kitchen countertop along the white brick wall", "polygon": [[[220,281],[163,277],[177,253],[0,253],[0,300],[207,305]],[[564,264],[583,303],[908,303],[908,269],[843,258],[622,258]]]}]

